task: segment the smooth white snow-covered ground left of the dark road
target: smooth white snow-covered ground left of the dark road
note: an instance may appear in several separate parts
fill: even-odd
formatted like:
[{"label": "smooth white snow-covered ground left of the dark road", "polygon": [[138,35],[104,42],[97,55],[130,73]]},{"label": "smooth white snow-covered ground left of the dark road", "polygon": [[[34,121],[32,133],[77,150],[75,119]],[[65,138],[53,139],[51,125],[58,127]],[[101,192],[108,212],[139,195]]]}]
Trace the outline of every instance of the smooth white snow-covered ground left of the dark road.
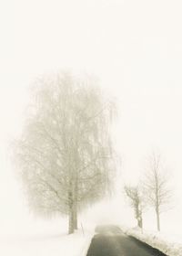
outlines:
[{"label": "smooth white snow-covered ground left of the dark road", "polygon": [[6,239],[0,242],[0,255],[4,256],[86,256],[92,236],[83,236],[80,232],[74,235],[35,236]]}]

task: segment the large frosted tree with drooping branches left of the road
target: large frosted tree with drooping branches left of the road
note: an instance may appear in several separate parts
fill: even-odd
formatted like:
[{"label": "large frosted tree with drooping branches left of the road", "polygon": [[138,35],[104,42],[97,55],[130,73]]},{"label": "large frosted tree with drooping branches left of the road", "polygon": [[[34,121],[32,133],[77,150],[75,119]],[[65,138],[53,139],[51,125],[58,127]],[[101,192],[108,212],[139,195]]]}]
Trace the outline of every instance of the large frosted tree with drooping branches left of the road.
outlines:
[{"label": "large frosted tree with drooping branches left of the road", "polygon": [[68,215],[106,195],[113,176],[113,104],[94,80],[67,73],[35,83],[34,100],[15,156],[29,205],[38,213]]}]

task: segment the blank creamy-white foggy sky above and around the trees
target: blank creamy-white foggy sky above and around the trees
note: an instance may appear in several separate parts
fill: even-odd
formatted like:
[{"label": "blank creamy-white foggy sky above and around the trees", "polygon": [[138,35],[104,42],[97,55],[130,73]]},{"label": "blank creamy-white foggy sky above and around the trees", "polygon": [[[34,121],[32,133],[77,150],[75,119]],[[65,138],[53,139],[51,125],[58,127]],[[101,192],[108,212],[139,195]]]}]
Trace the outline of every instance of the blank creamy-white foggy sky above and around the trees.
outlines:
[{"label": "blank creamy-white foggy sky above and around the trees", "polygon": [[0,0],[3,221],[21,209],[8,144],[21,129],[29,85],[42,73],[72,69],[98,76],[116,96],[116,141],[127,179],[159,148],[176,188],[169,222],[182,227],[173,223],[182,214],[181,12],[179,0]]}]

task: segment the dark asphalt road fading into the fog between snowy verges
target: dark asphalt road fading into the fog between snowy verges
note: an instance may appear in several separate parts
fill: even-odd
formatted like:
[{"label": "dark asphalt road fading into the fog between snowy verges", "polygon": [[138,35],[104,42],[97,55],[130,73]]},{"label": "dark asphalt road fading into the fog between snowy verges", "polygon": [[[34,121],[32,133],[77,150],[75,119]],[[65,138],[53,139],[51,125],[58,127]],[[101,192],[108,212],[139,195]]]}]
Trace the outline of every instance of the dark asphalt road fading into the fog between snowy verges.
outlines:
[{"label": "dark asphalt road fading into the fog between snowy verges", "polygon": [[167,256],[147,244],[126,236],[116,226],[96,227],[87,256]]}]

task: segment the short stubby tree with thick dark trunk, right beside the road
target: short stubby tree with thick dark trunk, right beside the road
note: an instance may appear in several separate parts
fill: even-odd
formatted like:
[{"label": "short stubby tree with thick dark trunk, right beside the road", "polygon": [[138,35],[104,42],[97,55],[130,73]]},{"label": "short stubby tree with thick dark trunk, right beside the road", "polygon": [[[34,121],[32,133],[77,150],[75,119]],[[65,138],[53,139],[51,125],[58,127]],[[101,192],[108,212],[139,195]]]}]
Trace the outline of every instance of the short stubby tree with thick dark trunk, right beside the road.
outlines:
[{"label": "short stubby tree with thick dark trunk, right beside the road", "polygon": [[129,198],[131,208],[133,208],[135,212],[137,226],[140,229],[143,229],[143,219],[142,219],[143,202],[141,197],[141,191],[138,186],[125,186],[124,189],[125,189],[126,197]]}]

